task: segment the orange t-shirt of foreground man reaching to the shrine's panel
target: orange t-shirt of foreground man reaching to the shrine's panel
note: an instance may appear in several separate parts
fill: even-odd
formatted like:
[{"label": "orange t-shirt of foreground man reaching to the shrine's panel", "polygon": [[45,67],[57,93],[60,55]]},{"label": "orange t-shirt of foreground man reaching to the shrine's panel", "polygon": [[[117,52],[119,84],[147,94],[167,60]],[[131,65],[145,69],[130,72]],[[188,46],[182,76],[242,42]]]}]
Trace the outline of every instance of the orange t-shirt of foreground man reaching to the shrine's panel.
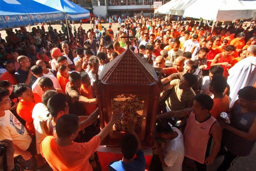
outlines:
[{"label": "orange t-shirt of foreground man reaching to the shrine's panel", "polygon": [[92,171],[89,158],[98,149],[100,137],[94,136],[87,143],[72,142],[69,146],[60,146],[56,137],[47,136],[42,141],[40,152],[55,171]]}]

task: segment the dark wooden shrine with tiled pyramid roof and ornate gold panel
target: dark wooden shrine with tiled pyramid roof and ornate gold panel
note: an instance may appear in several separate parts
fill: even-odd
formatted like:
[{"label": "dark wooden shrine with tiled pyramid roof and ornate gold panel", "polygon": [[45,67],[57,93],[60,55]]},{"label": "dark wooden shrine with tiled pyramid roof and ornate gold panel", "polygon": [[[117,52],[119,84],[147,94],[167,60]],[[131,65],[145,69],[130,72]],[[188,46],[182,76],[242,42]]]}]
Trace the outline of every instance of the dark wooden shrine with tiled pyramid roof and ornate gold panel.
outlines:
[{"label": "dark wooden shrine with tiled pyramid roof and ornate gold panel", "polygon": [[142,146],[151,146],[161,90],[161,79],[153,66],[129,48],[105,64],[96,89],[101,128],[108,124],[113,111],[124,114],[102,144],[120,147],[127,132],[126,121],[132,118]]}]

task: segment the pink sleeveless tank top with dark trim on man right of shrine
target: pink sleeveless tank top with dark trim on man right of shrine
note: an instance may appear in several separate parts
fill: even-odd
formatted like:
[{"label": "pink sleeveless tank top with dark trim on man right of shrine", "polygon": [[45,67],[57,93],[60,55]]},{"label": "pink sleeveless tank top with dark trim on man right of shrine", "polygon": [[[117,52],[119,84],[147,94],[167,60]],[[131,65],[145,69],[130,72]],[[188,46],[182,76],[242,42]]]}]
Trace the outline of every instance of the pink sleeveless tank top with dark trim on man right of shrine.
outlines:
[{"label": "pink sleeveless tank top with dark trim on man right of shrine", "polygon": [[196,121],[193,112],[189,114],[183,135],[186,157],[204,164],[210,129],[215,121],[216,119],[211,116],[208,120],[200,123]]}]

